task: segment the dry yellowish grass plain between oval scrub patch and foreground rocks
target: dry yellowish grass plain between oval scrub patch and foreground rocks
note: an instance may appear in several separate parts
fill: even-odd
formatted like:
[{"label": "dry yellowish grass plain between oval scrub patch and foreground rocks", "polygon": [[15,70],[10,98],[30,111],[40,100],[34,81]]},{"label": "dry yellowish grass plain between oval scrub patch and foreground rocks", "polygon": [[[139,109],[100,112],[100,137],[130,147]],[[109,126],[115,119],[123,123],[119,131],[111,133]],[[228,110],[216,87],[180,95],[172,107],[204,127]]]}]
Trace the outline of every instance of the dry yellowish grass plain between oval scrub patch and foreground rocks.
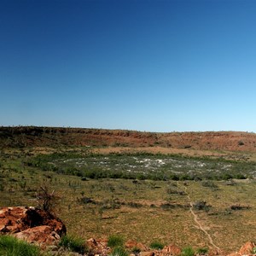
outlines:
[{"label": "dry yellowish grass plain between oval scrub patch and foreground rocks", "polygon": [[[144,149],[144,148],[143,148]],[[40,152],[42,152],[40,150]],[[18,154],[19,152],[15,152]],[[108,152],[109,153],[109,152]],[[189,212],[186,195],[168,194],[168,181],[138,181],[99,179],[81,181],[80,177],[42,172],[24,167],[18,155],[2,157],[0,207],[36,206],[34,197],[38,186],[48,183],[61,196],[59,217],[67,225],[70,235],[85,238],[108,237],[122,234],[149,245],[152,241],[177,246],[207,247],[207,237],[196,226]],[[217,182],[218,189],[189,181],[187,191],[191,201],[207,201],[210,212],[198,211],[201,224],[213,241],[225,252],[236,251],[245,241],[255,236],[256,183],[253,180],[236,181],[235,185]],[[172,182],[184,190],[183,182]],[[81,203],[88,197],[95,203]],[[161,205],[174,207],[161,207]],[[249,209],[231,211],[234,204]]]}]

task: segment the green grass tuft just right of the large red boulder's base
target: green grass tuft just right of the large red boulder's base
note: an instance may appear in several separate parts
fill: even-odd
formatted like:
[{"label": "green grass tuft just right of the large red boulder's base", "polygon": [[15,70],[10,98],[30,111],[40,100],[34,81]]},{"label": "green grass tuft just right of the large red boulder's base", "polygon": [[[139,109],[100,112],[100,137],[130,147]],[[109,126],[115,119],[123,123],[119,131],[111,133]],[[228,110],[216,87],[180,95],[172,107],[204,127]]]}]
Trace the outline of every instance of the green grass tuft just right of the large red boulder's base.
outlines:
[{"label": "green grass tuft just right of the large red boulder's base", "polygon": [[84,254],[87,251],[84,240],[76,236],[62,236],[59,245],[75,253]]}]

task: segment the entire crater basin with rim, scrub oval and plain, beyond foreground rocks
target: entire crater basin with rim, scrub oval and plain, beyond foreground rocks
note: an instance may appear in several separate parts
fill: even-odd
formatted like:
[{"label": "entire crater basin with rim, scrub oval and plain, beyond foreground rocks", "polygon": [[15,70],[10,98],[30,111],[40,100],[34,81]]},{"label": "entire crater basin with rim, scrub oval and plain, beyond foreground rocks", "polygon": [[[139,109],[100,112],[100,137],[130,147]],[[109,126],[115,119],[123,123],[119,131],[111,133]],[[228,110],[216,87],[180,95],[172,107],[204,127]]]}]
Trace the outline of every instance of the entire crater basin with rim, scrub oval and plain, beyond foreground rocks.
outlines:
[{"label": "entire crater basin with rim, scrub oval and plain, beyond foreground rocks", "polygon": [[254,240],[253,133],[19,126],[0,127],[0,145],[0,208],[38,207],[46,185],[84,241],[118,234],[227,255]]}]

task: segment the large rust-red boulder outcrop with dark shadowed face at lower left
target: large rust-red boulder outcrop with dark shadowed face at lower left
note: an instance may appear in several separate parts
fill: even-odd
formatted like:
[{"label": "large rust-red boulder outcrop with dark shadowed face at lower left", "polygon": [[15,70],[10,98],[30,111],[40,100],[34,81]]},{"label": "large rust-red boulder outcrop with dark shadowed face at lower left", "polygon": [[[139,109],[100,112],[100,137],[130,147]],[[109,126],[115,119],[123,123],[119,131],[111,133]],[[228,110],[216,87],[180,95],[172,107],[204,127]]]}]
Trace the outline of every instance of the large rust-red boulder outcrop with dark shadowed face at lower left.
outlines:
[{"label": "large rust-red boulder outcrop with dark shadowed face at lower left", "polygon": [[58,243],[66,234],[61,219],[34,207],[6,207],[0,210],[0,234],[13,235],[41,246]]}]

